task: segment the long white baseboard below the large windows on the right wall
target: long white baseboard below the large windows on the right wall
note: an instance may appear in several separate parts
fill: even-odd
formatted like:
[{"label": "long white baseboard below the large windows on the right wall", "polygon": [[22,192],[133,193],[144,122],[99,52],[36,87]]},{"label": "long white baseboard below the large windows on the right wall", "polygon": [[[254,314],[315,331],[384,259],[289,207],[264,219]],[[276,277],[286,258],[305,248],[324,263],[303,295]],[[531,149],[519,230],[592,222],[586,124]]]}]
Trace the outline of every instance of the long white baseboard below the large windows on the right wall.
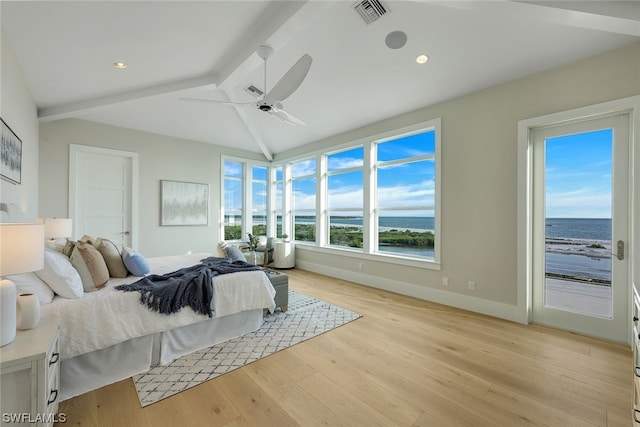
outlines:
[{"label": "long white baseboard below the large windows on the right wall", "polygon": [[325,264],[317,264],[314,262],[296,260],[296,267],[302,270],[320,273],[338,279],[348,280],[350,282],[359,283],[361,285],[371,286],[385,291],[395,292],[426,301],[444,304],[450,307],[456,307],[463,310],[473,311],[475,313],[486,314],[500,319],[510,320],[512,322],[526,323],[519,314],[518,307],[515,305],[504,304],[496,301],[490,301],[482,298],[461,295],[454,292],[447,292],[440,289],[419,286],[413,283],[402,282],[399,280],[386,279],[378,276],[371,276],[350,270],[331,267]]}]

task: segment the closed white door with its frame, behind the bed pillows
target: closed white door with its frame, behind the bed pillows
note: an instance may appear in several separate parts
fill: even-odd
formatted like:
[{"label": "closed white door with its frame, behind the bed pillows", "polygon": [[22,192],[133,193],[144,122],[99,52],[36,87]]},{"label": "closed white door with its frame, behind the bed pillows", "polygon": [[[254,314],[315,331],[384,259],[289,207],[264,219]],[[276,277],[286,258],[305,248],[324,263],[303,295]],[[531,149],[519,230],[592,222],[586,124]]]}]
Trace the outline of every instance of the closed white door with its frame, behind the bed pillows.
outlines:
[{"label": "closed white door with its frame, behind the bed pillows", "polygon": [[74,238],[103,237],[118,247],[136,245],[138,155],[70,146],[69,212]]}]

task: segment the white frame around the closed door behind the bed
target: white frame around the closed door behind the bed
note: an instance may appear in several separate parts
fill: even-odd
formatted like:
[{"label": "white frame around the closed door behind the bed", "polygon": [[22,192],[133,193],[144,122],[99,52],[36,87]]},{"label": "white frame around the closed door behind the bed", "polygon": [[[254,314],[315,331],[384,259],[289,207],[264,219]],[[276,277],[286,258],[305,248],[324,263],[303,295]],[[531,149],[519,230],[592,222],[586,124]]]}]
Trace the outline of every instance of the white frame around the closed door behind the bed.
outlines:
[{"label": "white frame around the closed door behind the bed", "polygon": [[[82,153],[125,157],[131,161],[131,188],[129,191],[130,212],[129,224],[131,228],[131,247],[138,247],[138,153],[131,151],[113,150],[110,148],[93,147],[88,145],[69,144],[69,215],[75,218],[77,197],[77,165],[78,156]],[[73,235],[76,235],[76,221],[73,221]]]}]

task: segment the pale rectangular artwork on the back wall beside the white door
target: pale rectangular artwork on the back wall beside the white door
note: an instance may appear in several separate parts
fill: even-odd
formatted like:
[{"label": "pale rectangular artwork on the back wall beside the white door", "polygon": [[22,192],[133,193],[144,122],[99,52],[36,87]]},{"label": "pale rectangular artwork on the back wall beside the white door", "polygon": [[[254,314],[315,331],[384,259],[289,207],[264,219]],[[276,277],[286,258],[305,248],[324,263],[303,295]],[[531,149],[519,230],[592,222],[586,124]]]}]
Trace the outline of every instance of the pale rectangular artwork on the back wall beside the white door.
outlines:
[{"label": "pale rectangular artwork on the back wall beside the white door", "polygon": [[160,225],[208,225],[209,184],[160,181]]}]

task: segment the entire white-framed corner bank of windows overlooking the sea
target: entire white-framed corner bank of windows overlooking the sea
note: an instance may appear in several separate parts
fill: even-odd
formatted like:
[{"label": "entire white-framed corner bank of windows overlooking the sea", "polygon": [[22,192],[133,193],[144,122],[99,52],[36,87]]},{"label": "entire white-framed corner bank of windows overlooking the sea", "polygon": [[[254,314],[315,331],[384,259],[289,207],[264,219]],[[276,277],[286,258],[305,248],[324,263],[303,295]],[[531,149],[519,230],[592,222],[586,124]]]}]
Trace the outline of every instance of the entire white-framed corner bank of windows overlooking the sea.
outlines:
[{"label": "entire white-framed corner bank of windows overlooking the sea", "polygon": [[225,239],[286,232],[328,250],[439,263],[439,132],[436,119],[288,163],[225,160]]}]

